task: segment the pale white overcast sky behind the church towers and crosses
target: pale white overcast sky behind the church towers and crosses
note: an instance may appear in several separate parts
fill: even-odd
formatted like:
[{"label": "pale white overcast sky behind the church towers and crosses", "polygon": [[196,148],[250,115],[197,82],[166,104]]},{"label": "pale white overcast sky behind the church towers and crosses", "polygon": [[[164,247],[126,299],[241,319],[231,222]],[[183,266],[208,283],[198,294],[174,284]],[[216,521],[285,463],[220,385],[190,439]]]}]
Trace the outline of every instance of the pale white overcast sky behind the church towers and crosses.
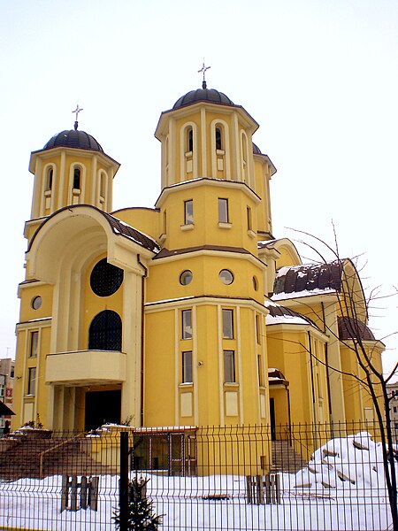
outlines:
[{"label": "pale white overcast sky behind the church towers and crosses", "polygon": [[[157,119],[200,87],[203,57],[209,88],[256,119],[254,142],[278,168],[274,235],[333,242],[333,219],[341,257],[364,253],[364,287],[393,292],[397,28],[396,0],[0,0],[0,357],[15,351],[30,152],[73,128],[79,101],[80,129],[121,163],[114,209],[152,207]],[[397,304],[371,319],[379,338],[398,330]],[[398,338],[385,342],[388,367]]]}]

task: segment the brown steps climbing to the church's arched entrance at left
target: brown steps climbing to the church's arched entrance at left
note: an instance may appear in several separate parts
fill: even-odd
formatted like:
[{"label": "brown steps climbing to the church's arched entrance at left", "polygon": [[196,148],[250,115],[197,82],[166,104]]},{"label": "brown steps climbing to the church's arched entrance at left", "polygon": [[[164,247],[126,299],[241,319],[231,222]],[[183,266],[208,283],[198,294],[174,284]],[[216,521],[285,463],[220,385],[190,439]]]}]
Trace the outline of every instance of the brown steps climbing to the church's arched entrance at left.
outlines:
[{"label": "brown steps climbing to the church's arched entrance at left", "polygon": [[0,481],[44,478],[50,475],[99,475],[115,473],[89,456],[84,437],[48,438],[11,435],[0,439]]}]

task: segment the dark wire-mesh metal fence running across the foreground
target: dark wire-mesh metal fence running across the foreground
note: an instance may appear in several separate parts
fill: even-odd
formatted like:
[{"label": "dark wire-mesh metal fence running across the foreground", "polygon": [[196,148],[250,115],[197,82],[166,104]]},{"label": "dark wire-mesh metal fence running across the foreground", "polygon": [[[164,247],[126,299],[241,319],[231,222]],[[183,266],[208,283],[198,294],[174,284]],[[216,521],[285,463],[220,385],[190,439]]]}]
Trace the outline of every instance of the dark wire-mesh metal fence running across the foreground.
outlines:
[{"label": "dark wire-mesh metal fence running across the foreground", "polygon": [[127,521],[143,515],[167,530],[392,528],[379,429],[27,427],[0,439],[0,529],[113,530],[115,516],[141,529]]}]

